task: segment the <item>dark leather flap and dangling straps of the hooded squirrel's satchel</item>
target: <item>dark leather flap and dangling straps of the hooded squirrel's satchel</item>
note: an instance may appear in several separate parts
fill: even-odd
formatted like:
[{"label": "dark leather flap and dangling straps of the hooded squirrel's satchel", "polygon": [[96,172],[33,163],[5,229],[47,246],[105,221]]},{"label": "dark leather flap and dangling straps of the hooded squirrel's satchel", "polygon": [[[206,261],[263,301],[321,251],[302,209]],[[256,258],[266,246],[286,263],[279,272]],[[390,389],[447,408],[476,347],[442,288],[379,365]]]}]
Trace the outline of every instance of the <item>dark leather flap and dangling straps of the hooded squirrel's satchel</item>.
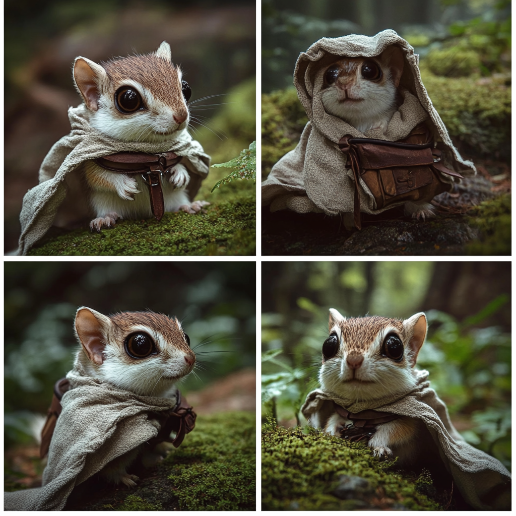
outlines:
[{"label": "dark leather flap and dangling straps of the hooded squirrel's satchel", "polygon": [[[420,124],[414,127],[407,138],[399,141],[354,138],[351,135],[345,135],[338,141],[338,147],[342,153],[347,154],[348,165],[353,172],[353,220],[358,229],[362,228],[359,178],[366,170],[432,167],[443,174],[462,179],[462,175],[442,164],[441,151],[433,148],[434,142],[428,141],[429,138],[428,130]],[[409,143],[407,140],[422,143]]]}]

